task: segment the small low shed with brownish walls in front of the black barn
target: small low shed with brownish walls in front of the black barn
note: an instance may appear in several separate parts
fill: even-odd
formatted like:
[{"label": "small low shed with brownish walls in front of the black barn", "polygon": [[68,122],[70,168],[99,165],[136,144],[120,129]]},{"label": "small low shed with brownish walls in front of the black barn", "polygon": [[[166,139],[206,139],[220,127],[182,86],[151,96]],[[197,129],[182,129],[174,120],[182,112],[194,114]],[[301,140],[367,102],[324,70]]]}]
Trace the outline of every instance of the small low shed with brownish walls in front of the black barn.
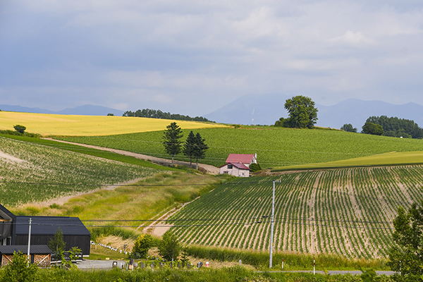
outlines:
[{"label": "small low shed with brownish walls in front of the black barn", "polygon": [[[15,252],[22,252],[25,257],[28,252],[27,245],[8,245],[0,246],[0,265],[6,266],[12,262]],[[30,261],[39,267],[49,267],[51,263],[51,252],[47,245],[31,245]]]}]

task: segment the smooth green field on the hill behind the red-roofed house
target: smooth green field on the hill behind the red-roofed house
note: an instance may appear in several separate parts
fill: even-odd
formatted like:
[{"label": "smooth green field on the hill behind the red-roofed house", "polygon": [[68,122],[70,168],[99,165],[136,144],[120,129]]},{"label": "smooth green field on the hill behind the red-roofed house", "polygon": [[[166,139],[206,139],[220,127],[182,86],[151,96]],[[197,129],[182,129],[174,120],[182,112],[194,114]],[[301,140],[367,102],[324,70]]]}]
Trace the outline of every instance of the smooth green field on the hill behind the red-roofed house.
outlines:
[{"label": "smooth green field on the hill behind the red-roofed house", "polygon": [[[339,161],[386,152],[423,151],[423,140],[346,133],[341,130],[268,127],[201,128],[193,131],[200,133],[210,147],[206,158],[200,162],[214,166],[225,164],[230,153],[257,153],[262,168],[271,168]],[[185,140],[190,130],[183,132]],[[169,158],[161,144],[162,135],[163,131],[154,131],[60,139]],[[176,159],[189,161],[183,155],[176,156]]]}]

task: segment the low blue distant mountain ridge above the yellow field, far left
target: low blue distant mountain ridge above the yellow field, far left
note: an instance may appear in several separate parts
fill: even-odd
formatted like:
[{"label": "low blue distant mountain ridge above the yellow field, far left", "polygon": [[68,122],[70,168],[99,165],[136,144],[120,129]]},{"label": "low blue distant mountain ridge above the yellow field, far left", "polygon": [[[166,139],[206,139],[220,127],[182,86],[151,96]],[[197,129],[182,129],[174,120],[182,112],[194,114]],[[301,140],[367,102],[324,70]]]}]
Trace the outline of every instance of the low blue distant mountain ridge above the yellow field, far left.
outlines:
[{"label": "low blue distant mountain ridge above the yellow field, far left", "polygon": [[25,106],[10,106],[0,105],[2,111],[20,111],[24,113],[36,114],[66,114],[66,115],[80,115],[80,116],[107,116],[107,114],[114,114],[114,116],[122,116],[123,111],[107,108],[105,106],[83,105],[75,108],[66,108],[61,111],[49,111],[39,108],[28,108]]}]

